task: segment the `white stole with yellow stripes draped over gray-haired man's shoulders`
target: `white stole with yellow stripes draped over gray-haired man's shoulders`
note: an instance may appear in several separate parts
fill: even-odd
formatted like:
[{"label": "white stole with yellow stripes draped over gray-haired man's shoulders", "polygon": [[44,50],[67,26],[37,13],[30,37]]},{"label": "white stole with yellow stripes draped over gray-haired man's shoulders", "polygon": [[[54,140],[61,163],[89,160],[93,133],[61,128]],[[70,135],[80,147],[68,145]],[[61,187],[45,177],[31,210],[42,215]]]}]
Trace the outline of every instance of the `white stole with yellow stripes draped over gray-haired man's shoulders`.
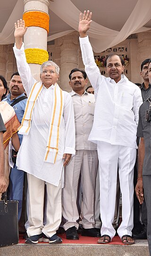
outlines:
[{"label": "white stole with yellow stripes draped over gray-haired man's shoulders", "polygon": [[[32,114],[37,98],[42,91],[42,82],[35,83],[28,97],[25,113],[21,126],[18,128],[19,134],[28,135],[31,128]],[[59,130],[64,108],[64,93],[55,83],[53,89],[53,106],[50,119],[49,136],[47,139],[44,161],[55,163],[59,151]]]}]

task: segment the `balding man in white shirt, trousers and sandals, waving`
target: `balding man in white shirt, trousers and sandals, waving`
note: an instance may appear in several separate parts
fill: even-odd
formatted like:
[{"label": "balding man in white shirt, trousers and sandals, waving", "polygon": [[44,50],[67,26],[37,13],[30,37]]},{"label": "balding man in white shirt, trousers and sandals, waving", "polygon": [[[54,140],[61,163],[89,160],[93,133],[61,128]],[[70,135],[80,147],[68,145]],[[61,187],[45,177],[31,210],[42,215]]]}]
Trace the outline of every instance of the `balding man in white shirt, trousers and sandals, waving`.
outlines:
[{"label": "balding man in white shirt, trousers and sandals, waving", "polygon": [[136,159],[138,111],[141,91],[122,73],[123,59],[113,54],[104,63],[109,78],[101,76],[86,31],[92,12],[80,14],[79,34],[85,72],[95,90],[96,106],[89,140],[97,143],[100,170],[101,238],[109,243],[115,236],[112,226],[116,202],[117,165],[122,193],[122,223],[117,229],[123,243],[133,244],[133,173]]}]

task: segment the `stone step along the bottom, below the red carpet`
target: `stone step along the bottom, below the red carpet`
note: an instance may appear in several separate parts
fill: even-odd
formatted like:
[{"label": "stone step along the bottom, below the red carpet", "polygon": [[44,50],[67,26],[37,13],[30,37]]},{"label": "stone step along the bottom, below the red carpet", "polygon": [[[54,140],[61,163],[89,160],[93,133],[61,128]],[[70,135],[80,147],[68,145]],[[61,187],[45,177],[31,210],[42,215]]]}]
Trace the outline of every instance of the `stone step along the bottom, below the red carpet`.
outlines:
[{"label": "stone step along the bottom, below the red carpet", "polygon": [[0,248],[0,256],[149,256],[147,240],[134,245],[18,244]]}]

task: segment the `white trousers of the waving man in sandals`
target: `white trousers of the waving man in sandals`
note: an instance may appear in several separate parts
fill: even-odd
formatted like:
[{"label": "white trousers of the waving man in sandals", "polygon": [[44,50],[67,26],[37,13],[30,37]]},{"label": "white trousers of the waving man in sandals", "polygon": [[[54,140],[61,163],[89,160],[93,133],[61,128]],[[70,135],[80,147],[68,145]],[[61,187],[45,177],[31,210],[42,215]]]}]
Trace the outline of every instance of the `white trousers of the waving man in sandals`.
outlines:
[{"label": "white trousers of the waving man in sandals", "polygon": [[109,235],[112,239],[116,231],[113,228],[117,166],[122,194],[122,222],[117,230],[119,237],[132,235],[133,229],[133,175],[136,159],[136,149],[126,146],[112,145],[98,141],[98,158],[100,171],[100,207],[101,236]]}]

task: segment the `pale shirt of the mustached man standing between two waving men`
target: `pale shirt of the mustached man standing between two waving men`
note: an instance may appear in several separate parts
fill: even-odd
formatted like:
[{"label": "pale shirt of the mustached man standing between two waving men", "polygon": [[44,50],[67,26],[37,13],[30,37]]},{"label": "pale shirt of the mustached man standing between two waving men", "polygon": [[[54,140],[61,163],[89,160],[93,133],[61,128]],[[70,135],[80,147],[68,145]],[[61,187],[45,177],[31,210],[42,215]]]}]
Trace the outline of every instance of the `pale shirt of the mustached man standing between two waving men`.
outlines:
[{"label": "pale shirt of the mustached man standing between two waving men", "polygon": [[86,91],[80,96],[72,90],[70,95],[75,114],[76,150],[97,150],[97,145],[88,141],[94,119],[95,97]]}]

